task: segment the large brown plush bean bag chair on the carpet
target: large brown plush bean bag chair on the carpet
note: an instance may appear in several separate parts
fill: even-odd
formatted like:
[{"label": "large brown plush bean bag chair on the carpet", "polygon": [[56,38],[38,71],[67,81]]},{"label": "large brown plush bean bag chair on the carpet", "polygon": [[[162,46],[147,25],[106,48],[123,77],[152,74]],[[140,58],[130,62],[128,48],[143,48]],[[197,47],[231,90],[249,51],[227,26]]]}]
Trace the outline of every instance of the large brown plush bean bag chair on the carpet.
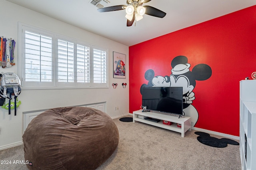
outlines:
[{"label": "large brown plush bean bag chair on the carpet", "polygon": [[119,133],[106,113],[58,107],[36,116],[23,135],[28,169],[93,170],[116,150]]}]

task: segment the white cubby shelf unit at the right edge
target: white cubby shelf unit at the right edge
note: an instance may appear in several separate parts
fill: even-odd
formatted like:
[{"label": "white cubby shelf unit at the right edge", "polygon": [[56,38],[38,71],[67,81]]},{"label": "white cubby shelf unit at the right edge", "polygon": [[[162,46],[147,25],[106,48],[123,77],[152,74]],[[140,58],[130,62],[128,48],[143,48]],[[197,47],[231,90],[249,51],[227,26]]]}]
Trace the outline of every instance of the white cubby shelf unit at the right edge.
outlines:
[{"label": "white cubby shelf unit at the right edge", "polygon": [[256,169],[256,80],[240,81],[240,157],[242,170]]}]

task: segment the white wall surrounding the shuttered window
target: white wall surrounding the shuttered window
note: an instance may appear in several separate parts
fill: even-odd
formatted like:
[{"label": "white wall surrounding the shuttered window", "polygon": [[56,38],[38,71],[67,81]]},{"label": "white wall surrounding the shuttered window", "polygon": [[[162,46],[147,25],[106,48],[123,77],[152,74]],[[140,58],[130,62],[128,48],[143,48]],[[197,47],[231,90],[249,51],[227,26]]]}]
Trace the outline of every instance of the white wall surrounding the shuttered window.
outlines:
[{"label": "white wall surrounding the shuttered window", "polygon": [[[22,112],[53,107],[76,106],[106,102],[106,113],[110,117],[119,117],[129,112],[129,48],[125,45],[90,33],[78,27],[55,20],[40,13],[28,10],[16,4],[0,0],[1,24],[0,36],[12,38],[16,41],[14,59],[16,65],[11,68],[0,68],[0,72],[14,72],[18,74],[18,22],[46,29],[68,37],[74,37],[82,41],[108,48],[109,57],[109,88],[97,89],[65,89],[65,90],[22,90],[18,99],[22,102],[17,110],[17,115],[8,115],[8,110],[0,107],[0,149],[6,146],[16,145],[22,142]],[[126,54],[126,79],[113,78],[113,51]],[[116,89],[112,83],[118,83]],[[127,83],[126,88],[122,83]],[[115,110],[115,107],[119,110]]]}]

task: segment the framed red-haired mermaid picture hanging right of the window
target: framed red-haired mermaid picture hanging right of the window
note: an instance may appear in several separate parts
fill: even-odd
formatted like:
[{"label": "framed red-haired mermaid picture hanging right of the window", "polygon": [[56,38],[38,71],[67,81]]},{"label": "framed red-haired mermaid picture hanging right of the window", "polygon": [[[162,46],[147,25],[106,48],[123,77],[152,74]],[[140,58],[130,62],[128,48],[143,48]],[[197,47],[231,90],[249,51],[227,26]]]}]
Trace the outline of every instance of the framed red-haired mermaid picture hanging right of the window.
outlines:
[{"label": "framed red-haired mermaid picture hanging right of the window", "polygon": [[126,78],[126,55],[113,51],[113,70],[114,78]]}]

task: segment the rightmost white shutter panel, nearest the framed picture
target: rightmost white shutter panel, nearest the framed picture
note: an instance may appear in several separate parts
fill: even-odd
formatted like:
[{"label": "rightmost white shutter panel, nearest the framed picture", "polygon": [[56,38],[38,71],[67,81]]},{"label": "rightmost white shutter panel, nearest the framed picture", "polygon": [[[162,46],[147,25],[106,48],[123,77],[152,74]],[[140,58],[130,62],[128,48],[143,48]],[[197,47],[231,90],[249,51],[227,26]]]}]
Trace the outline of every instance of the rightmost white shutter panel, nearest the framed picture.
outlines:
[{"label": "rightmost white shutter panel, nearest the framed picture", "polygon": [[107,52],[93,48],[93,82],[96,86],[107,83]]}]

